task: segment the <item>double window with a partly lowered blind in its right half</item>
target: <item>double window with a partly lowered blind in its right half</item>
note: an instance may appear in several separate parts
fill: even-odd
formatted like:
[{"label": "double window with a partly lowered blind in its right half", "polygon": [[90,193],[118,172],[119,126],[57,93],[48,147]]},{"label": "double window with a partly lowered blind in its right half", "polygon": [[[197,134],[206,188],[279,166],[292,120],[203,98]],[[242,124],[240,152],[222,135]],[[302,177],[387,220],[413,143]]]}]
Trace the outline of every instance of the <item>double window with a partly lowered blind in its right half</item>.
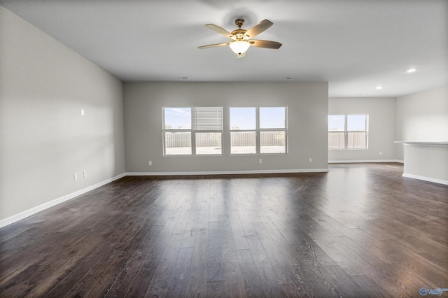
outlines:
[{"label": "double window with a partly lowered blind in its right half", "polygon": [[165,155],[221,155],[222,135],[222,107],[163,108]]}]

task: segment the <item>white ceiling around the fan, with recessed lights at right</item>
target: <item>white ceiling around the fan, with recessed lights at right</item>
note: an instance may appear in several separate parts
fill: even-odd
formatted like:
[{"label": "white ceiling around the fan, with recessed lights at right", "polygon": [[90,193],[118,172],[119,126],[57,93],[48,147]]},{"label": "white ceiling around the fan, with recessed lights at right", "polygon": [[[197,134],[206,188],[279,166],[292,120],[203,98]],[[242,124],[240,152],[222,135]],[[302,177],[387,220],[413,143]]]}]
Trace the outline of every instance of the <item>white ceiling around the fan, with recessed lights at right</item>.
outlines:
[{"label": "white ceiling around the fan, with recessed lights at right", "polygon": [[[330,97],[398,97],[448,83],[447,0],[0,3],[123,81],[328,81]],[[244,29],[274,22],[257,38],[282,47],[249,48],[244,59],[228,47],[197,48],[228,41],[204,24],[232,31],[238,17]]]}]

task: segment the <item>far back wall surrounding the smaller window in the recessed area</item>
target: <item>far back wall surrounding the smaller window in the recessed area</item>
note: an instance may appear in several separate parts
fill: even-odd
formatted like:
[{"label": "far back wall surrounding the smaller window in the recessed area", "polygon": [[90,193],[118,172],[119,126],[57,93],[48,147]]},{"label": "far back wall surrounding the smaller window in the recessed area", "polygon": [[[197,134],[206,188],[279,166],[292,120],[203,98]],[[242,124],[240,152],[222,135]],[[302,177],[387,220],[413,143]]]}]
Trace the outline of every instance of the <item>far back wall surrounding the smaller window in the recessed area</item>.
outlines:
[{"label": "far back wall surrounding the smaller window in the recessed area", "polygon": [[[337,162],[395,160],[395,98],[330,98],[328,114],[368,114],[367,150],[328,150],[328,160]],[[381,152],[381,155],[379,155]]]}]

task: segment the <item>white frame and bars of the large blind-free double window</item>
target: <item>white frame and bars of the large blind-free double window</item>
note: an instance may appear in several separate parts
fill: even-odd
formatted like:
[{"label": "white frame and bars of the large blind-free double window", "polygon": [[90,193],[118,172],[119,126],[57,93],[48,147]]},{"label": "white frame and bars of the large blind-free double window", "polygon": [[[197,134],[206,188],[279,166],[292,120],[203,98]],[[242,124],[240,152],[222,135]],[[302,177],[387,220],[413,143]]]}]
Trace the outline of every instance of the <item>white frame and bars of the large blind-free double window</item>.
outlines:
[{"label": "white frame and bars of the large blind-free double window", "polygon": [[[229,121],[230,129],[230,155],[286,155],[288,154],[288,106],[231,106],[229,107],[229,120],[232,117],[232,108],[255,108],[255,129],[232,129],[232,123]],[[260,128],[260,108],[284,108],[285,123],[283,128]],[[255,133],[255,152],[250,153],[232,153],[232,132],[253,132]],[[262,132],[284,132],[284,152],[261,152],[261,134]]]}]

